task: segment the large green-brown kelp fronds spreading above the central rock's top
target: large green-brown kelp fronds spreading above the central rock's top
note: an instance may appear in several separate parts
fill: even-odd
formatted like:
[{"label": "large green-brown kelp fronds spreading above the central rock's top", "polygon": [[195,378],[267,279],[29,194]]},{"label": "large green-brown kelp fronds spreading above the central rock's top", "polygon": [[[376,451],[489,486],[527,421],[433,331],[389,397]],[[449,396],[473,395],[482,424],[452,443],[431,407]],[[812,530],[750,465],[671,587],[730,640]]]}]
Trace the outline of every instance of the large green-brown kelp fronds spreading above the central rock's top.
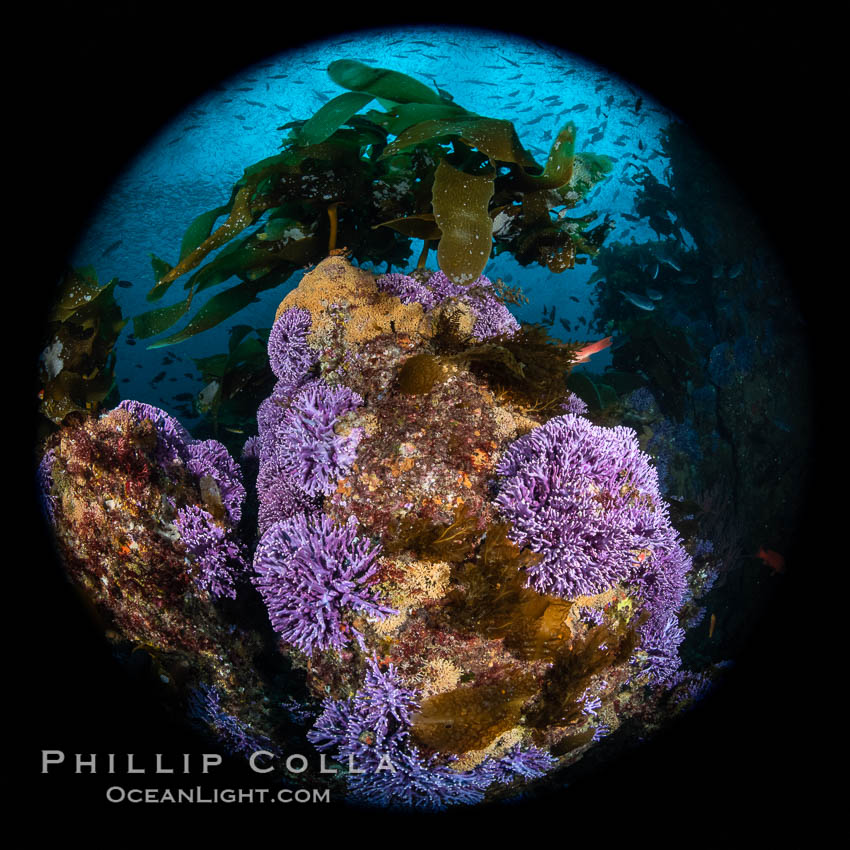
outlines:
[{"label": "large green-brown kelp fronds spreading above the central rock's top", "polygon": [[[199,293],[240,282],[151,347],[214,327],[337,245],[358,262],[391,267],[406,262],[411,238],[422,238],[456,282],[478,277],[494,245],[557,272],[599,249],[610,222],[588,229],[595,214],[563,213],[611,164],[574,152],[572,123],[541,167],[511,121],[464,109],[412,77],[347,59],[332,62],[328,74],[348,91],[280,128],[289,131],[283,150],[246,168],[227,203],[195,218],[174,266],[154,258],[148,300],[181,277],[186,296],[137,316],[139,338],[168,330]],[[381,108],[360,113],[373,100]]]}]

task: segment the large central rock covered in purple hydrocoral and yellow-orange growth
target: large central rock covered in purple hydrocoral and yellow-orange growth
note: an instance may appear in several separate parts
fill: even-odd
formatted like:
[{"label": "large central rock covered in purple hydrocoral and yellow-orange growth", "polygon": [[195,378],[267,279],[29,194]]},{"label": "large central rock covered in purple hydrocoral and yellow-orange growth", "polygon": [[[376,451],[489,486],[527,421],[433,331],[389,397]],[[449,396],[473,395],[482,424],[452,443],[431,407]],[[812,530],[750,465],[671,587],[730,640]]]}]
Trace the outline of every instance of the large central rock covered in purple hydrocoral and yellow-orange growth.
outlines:
[{"label": "large central rock covered in purple hydrocoral and yellow-orange growth", "polygon": [[486,278],[399,278],[330,257],[281,304],[254,568],[310,740],[399,768],[347,791],[440,808],[657,723],[711,570],[689,577],[634,432],[583,418],[563,372],[566,412],[529,380],[575,349],[477,337]]}]

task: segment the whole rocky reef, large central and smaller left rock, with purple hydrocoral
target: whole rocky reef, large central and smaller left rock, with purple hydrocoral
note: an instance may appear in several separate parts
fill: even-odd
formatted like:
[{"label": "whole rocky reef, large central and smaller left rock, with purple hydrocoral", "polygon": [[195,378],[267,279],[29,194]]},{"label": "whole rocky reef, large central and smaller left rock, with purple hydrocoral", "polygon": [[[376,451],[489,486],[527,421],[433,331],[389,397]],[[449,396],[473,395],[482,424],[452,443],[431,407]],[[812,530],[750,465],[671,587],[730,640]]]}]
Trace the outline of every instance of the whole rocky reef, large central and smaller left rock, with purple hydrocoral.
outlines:
[{"label": "whole rocky reef, large central and smaller left rock, with purple hydrocoral", "polygon": [[[673,527],[631,429],[500,379],[525,374],[501,296],[331,256],[281,304],[238,462],[137,401],[49,439],[69,573],[232,753],[277,752],[286,713],[338,767],[311,779],[441,809],[521,794],[709,681],[679,647],[710,545]],[[269,640],[300,690],[270,696]]]}]

